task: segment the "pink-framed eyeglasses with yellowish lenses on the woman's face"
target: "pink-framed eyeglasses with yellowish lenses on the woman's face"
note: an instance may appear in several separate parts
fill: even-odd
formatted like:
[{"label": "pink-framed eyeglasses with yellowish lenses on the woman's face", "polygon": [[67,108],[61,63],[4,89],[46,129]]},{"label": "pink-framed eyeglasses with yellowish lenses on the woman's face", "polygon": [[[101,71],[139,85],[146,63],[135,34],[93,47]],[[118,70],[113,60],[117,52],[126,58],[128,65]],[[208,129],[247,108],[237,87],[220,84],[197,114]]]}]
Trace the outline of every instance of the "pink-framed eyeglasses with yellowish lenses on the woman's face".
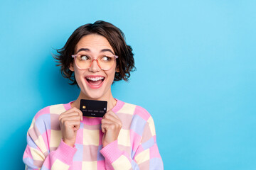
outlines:
[{"label": "pink-framed eyeglasses with yellowish lenses on the woman's face", "polygon": [[93,59],[89,55],[72,55],[75,60],[75,65],[78,69],[89,69],[92,62],[95,60],[100,69],[108,70],[114,65],[114,61],[118,58],[117,55],[102,55]]}]

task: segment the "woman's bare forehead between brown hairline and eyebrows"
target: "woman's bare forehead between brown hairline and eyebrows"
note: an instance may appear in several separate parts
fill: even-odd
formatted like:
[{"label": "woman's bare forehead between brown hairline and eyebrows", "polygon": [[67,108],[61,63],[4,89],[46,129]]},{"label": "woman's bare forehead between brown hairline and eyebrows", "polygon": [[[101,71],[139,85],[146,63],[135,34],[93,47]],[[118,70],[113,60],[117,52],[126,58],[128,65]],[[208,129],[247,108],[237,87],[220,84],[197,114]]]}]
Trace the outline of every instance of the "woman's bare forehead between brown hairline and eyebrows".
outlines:
[{"label": "woman's bare forehead between brown hairline and eyebrows", "polygon": [[107,38],[98,34],[90,34],[83,36],[77,45],[75,45],[75,53],[78,52],[80,48],[88,48],[91,52],[100,52],[102,49],[112,49],[110,42]]}]

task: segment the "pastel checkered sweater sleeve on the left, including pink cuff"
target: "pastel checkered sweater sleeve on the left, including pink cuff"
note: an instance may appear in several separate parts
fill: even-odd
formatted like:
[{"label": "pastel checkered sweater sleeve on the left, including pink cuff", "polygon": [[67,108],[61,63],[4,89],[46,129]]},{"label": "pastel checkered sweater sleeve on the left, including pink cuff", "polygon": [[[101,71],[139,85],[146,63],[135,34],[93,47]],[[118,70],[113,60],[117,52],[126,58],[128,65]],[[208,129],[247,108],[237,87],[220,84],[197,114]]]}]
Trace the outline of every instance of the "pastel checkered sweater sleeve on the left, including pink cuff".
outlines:
[{"label": "pastel checkered sweater sleeve on the left, including pink cuff", "polygon": [[[49,114],[44,114],[47,108],[39,111],[27,133],[27,146],[23,154],[23,162],[26,169],[70,169],[73,157],[77,149],[70,147],[61,140],[50,144],[50,123],[46,120]],[[41,115],[41,116],[38,116]],[[55,132],[56,133],[56,132]],[[55,149],[50,145],[57,145]]]}]

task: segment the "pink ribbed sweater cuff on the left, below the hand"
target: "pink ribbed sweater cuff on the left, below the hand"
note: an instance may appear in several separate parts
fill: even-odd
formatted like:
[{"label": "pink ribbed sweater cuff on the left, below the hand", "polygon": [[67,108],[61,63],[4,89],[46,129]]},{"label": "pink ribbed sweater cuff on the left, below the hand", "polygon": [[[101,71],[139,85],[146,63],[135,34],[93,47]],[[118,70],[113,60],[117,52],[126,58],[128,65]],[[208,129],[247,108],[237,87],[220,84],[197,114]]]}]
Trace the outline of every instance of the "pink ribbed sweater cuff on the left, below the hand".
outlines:
[{"label": "pink ribbed sweater cuff on the left, below the hand", "polygon": [[77,152],[78,149],[74,147],[70,147],[69,145],[66,145],[63,140],[60,141],[60,145],[55,150],[54,157],[60,159],[65,164],[72,164],[73,157],[75,155],[75,152]]}]

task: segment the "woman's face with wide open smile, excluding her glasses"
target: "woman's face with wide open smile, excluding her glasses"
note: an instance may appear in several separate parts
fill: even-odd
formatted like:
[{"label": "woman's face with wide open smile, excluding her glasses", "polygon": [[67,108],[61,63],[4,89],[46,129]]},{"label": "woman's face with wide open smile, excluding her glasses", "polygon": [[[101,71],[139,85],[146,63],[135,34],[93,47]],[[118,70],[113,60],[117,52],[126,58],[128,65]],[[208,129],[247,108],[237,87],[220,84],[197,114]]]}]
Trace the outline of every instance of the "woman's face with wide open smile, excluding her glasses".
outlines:
[{"label": "woman's face with wide open smile, excluding her glasses", "polygon": [[[97,34],[85,35],[75,47],[75,55],[89,55],[95,59],[98,56],[114,55],[110,42],[105,37]],[[102,70],[93,61],[89,69],[78,69],[75,62],[70,65],[70,70],[75,72],[75,80],[78,82],[82,93],[90,99],[107,99],[111,95],[111,85],[114,81],[117,62],[109,70]]]}]

